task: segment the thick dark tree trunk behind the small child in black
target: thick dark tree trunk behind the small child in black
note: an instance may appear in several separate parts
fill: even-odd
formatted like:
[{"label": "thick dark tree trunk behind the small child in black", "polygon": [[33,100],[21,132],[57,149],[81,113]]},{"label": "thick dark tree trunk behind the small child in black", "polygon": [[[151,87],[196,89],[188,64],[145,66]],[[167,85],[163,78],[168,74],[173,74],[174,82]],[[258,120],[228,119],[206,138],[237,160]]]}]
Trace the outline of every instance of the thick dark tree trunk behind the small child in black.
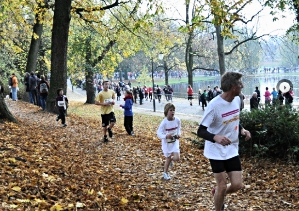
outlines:
[{"label": "thick dark tree trunk behind the small child in black", "polygon": [[51,41],[51,77],[46,110],[54,112],[56,90],[62,88],[66,94],[66,56],[72,0],[55,0]]}]

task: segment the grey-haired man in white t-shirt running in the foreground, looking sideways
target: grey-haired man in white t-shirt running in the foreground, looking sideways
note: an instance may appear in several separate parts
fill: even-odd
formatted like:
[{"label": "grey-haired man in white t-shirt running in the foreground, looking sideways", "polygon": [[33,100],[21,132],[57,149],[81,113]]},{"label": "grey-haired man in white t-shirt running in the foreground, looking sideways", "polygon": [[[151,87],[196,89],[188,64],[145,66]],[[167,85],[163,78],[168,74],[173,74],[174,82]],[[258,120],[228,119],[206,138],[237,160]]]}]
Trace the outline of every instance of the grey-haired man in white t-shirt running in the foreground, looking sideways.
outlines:
[{"label": "grey-haired man in white t-shirt running in the foreground, looking sideways", "polygon": [[[220,83],[223,93],[206,107],[197,135],[205,139],[204,155],[209,159],[217,183],[211,193],[214,196],[215,211],[223,207],[224,196],[242,188],[242,168],[238,155],[238,134],[251,135],[239,123],[242,74],[226,72]],[[230,183],[227,184],[227,173]]]}]

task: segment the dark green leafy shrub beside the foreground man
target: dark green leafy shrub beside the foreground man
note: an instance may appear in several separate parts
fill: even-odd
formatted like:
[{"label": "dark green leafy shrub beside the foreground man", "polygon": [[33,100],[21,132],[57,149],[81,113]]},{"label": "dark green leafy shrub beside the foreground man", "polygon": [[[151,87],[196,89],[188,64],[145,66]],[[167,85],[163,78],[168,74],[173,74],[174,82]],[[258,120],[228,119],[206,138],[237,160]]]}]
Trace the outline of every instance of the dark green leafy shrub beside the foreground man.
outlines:
[{"label": "dark green leafy shrub beside the foreground man", "polygon": [[240,137],[239,151],[252,156],[299,159],[299,112],[293,108],[266,107],[240,114],[242,126],[252,139]]}]

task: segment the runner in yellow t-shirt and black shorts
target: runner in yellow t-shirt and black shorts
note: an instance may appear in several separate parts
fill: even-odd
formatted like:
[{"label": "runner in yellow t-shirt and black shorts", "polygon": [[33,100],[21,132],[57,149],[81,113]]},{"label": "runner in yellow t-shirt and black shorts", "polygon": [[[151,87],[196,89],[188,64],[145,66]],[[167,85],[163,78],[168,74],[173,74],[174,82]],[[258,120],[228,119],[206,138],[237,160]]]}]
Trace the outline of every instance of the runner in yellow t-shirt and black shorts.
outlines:
[{"label": "runner in yellow t-shirt and black shorts", "polygon": [[112,128],[116,123],[115,115],[113,112],[113,105],[115,104],[115,94],[113,90],[108,89],[109,85],[109,81],[104,81],[103,90],[100,93],[98,93],[94,99],[95,105],[100,105],[104,143],[108,142],[107,131],[110,138],[113,136]]}]

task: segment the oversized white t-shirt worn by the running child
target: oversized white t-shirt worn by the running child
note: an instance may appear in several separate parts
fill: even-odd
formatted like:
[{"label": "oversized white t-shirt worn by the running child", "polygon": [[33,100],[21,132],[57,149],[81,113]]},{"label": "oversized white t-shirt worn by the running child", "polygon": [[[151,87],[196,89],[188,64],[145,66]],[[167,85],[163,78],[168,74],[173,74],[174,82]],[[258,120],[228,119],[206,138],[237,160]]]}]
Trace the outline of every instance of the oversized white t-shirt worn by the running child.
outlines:
[{"label": "oversized white t-shirt worn by the running child", "polygon": [[168,121],[167,118],[161,121],[160,126],[157,130],[157,136],[161,138],[162,151],[165,157],[169,157],[170,153],[179,152],[179,140],[176,139],[174,142],[169,143],[171,139],[167,139],[168,134],[181,135],[181,120],[174,117],[173,121]]}]

